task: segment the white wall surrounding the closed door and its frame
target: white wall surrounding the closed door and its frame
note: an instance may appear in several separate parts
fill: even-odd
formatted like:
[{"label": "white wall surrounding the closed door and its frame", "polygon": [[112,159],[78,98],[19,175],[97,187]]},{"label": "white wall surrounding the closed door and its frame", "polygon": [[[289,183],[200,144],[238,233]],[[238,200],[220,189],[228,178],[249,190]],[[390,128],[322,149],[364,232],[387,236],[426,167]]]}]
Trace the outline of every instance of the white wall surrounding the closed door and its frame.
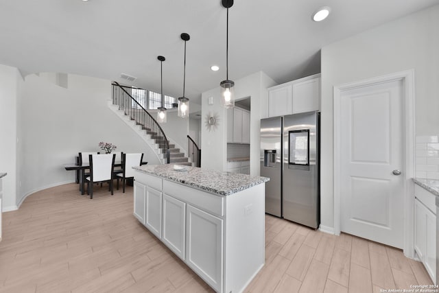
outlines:
[{"label": "white wall surrounding the closed door and its frame", "polygon": [[414,69],[416,134],[439,133],[439,5],[322,48],[321,222],[333,227],[333,86]]}]

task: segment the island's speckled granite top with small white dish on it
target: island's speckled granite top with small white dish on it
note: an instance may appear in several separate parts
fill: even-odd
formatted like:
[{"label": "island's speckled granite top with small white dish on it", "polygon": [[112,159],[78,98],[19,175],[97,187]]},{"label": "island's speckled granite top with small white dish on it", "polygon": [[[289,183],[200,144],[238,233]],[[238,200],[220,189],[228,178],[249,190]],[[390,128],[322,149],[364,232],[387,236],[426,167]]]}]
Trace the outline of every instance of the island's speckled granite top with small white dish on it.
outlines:
[{"label": "island's speckled granite top with small white dish on it", "polygon": [[[156,166],[164,166],[164,165],[156,165]],[[180,183],[182,185],[187,185],[189,187],[193,187],[196,189],[201,189],[203,191],[207,191],[211,194],[217,194],[219,196],[230,196],[230,194],[235,194],[239,191],[243,191],[245,189],[248,189],[250,187],[254,187],[256,185],[268,182],[270,178],[268,177],[261,177],[261,176],[254,176],[250,177],[245,174],[233,174],[230,172],[219,172],[215,170],[209,170],[209,169],[200,169],[197,167],[187,167],[188,171],[185,172],[179,172],[175,171],[174,169],[171,169],[171,167],[161,167],[158,171],[154,168],[154,165],[150,166],[140,166],[140,167],[133,167],[133,169],[136,169],[139,172],[143,172],[145,174],[150,174],[154,176],[158,176],[167,180],[174,181],[176,183]],[[167,168],[167,169],[166,169]],[[196,169],[195,169],[196,168]],[[193,170],[196,170],[197,172],[202,172],[205,174],[204,178],[200,178],[201,182],[208,182],[205,184],[202,184],[200,182],[196,182],[195,179],[191,180],[191,178],[179,178],[179,176],[185,176],[187,172],[191,172]],[[230,180],[221,178],[221,176],[225,176],[226,178],[229,178],[230,176],[234,176],[235,178],[240,178],[239,182],[235,184],[235,186],[227,186],[230,185]],[[187,176],[186,176],[187,177]],[[217,181],[212,180],[212,178],[217,178]],[[218,179],[219,178],[219,179]],[[204,180],[202,180],[204,179]],[[207,180],[206,180],[207,179]],[[226,182],[224,182],[226,180]],[[224,187],[224,183],[226,183],[226,187]],[[213,185],[218,185],[219,187],[215,187]],[[223,185],[223,186],[222,186]]]}]

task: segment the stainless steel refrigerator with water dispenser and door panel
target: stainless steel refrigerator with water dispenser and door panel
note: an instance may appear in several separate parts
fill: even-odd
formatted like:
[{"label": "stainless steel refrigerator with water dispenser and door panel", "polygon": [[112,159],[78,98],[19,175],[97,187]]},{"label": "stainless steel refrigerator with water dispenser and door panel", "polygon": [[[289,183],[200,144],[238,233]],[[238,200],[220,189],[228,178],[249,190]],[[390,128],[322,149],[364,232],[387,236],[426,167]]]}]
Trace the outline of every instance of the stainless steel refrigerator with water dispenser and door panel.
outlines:
[{"label": "stainless steel refrigerator with water dispenser and door panel", "polygon": [[311,228],[320,224],[320,113],[261,119],[265,213]]}]

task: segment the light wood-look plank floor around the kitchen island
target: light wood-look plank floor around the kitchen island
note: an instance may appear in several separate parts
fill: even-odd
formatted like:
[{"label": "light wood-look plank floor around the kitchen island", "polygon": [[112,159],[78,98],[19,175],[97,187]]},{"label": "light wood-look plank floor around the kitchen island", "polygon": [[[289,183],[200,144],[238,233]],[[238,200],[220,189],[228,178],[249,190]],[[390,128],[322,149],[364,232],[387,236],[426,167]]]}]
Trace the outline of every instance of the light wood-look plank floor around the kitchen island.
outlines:
[{"label": "light wood-look plank floor around the kitchen island", "polygon": [[[132,187],[68,184],[3,213],[0,292],[213,292],[132,215]],[[380,292],[431,284],[387,246],[265,217],[265,266],[245,292]]]}]

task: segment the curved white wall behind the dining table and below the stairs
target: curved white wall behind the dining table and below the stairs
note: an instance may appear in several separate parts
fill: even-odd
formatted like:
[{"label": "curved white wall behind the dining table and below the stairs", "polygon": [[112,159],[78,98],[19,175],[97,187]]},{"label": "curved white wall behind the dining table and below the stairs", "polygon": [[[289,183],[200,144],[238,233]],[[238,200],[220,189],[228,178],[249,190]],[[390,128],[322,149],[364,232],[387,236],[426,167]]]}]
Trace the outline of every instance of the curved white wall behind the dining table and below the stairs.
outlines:
[{"label": "curved white wall behind the dining table and below the stairs", "polygon": [[[8,172],[3,180],[5,209],[16,208],[40,189],[73,182],[74,172],[66,171],[64,163],[74,163],[80,151],[102,152],[99,141],[114,143],[117,152],[143,152],[144,161],[159,163],[145,141],[108,108],[109,80],[68,75],[69,89],[65,89],[37,75],[28,75],[20,83],[18,70],[9,71],[9,80],[0,78],[0,92],[8,92],[1,95],[0,108],[9,109],[7,115],[0,115],[1,124],[8,125],[8,132],[2,129],[2,137],[8,142],[2,141],[0,148],[1,154],[12,154],[2,158],[0,164],[1,168],[7,165],[4,172]],[[14,103],[18,110],[14,110]],[[19,139],[16,154],[12,143],[15,137]]]}]

